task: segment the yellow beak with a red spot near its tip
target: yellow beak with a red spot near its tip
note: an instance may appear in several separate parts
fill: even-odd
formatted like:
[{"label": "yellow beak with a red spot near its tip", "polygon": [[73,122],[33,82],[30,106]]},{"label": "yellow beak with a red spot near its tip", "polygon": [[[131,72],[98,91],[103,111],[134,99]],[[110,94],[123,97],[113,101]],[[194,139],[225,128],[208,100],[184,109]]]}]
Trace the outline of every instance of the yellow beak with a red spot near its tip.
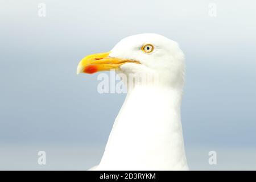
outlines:
[{"label": "yellow beak with a red spot near its tip", "polygon": [[77,74],[79,73],[96,73],[100,71],[109,71],[110,69],[119,69],[125,63],[139,63],[139,61],[129,59],[119,59],[116,57],[109,57],[110,52],[96,53],[84,57],[78,67]]}]

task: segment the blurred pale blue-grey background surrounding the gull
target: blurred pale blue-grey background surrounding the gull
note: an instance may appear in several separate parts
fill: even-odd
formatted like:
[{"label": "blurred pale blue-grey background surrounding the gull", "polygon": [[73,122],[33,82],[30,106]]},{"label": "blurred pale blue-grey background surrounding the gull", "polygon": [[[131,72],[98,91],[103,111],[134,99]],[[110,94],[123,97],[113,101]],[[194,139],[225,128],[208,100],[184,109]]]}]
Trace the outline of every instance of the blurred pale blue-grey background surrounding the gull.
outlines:
[{"label": "blurred pale blue-grey background surrounding the gull", "polygon": [[[178,42],[186,56],[189,168],[255,170],[255,7],[253,0],[0,0],[0,169],[98,164],[125,94],[99,94],[98,73],[77,76],[77,64],[152,32]],[[46,151],[46,165],[38,151]]]}]

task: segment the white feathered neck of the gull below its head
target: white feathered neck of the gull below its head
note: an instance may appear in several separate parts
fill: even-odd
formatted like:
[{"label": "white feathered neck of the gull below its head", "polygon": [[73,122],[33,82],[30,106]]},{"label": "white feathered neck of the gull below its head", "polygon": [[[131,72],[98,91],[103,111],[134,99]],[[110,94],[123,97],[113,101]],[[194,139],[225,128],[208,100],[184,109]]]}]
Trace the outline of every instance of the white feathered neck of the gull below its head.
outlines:
[{"label": "white feathered neck of the gull below its head", "polygon": [[135,86],[115,119],[100,169],[187,169],[182,89]]}]

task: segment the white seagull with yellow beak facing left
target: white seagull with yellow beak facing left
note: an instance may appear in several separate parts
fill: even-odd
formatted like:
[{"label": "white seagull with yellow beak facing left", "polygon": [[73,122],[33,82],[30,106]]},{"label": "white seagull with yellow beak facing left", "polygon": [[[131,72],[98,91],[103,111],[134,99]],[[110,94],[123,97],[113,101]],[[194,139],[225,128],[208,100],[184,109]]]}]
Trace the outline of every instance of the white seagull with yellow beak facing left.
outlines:
[{"label": "white seagull with yellow beak facing left", "polygon": [[[77,74],[113,69],[126,76],[127,96],[101,162],[91,170],[188,170],[180,114],[185,63],[179,45],[158,34],[129,36],[109,52],[84,57]],[[145,75],[150,78],[131,81]]]}]

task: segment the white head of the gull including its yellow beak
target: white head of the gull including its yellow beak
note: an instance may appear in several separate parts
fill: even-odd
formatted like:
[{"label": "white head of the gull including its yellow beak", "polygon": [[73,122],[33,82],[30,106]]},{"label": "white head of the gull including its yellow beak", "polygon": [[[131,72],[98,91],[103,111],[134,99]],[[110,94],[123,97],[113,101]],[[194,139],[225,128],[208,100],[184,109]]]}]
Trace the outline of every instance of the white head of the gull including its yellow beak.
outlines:
[{"label": "white head of the gull including its yellow beak", "polygon": [[164,84],[183,85],[184,54],[176,42],[162,35],[138,34],[122,39],[110,52],[84,57],[77,74],[110,69],[126,75],[157,75]]}]

